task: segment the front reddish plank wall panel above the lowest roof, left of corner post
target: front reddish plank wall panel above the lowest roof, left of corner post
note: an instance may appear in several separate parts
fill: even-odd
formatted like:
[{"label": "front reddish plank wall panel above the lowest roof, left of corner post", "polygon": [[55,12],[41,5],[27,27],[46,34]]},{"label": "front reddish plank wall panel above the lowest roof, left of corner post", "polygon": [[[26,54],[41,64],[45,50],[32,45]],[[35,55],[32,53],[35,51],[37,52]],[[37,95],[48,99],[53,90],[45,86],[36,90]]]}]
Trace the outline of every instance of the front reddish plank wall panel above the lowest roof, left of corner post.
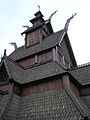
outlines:
[{"label": "front reddish plank wall panel above the lowest roof, left of corner post", "polygon": [[48,80],[45,82],[39,82],[38,84],[26,85],[22,88],[22,96],[34,93],[45,92],[48,90],[55,90],[62,88],[61,79]]}]

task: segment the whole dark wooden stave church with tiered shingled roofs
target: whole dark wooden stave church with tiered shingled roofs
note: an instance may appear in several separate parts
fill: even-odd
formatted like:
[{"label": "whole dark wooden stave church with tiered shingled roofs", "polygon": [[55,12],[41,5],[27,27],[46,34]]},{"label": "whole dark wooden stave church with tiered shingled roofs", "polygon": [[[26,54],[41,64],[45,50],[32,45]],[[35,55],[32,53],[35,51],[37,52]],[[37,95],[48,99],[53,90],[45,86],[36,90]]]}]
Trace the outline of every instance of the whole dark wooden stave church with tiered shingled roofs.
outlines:
[{"label": "whole dark wooden stave church with tiered shingled roofs", "polygon": [[90,120],[90,64],[77,66],[66,27],[34,15],[0,63],[0,120]]}]

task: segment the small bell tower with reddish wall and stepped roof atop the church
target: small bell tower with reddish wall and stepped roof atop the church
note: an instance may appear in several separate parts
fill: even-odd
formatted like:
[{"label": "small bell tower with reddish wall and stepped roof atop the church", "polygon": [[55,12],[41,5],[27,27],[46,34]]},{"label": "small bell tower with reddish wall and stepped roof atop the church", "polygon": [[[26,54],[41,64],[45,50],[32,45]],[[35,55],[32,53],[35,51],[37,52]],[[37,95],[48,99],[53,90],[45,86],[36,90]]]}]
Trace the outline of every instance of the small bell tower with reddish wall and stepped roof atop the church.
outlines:
[{"label": "small bell tower with reddish wall and stepped roof atop the church", "polygon": [[49,20],[44,20],[41,11],[36,12],[35,18],[31,19],[32,27],[21,33],[25,34],[25,48],[40,44],[44,38],[53,33]]}]

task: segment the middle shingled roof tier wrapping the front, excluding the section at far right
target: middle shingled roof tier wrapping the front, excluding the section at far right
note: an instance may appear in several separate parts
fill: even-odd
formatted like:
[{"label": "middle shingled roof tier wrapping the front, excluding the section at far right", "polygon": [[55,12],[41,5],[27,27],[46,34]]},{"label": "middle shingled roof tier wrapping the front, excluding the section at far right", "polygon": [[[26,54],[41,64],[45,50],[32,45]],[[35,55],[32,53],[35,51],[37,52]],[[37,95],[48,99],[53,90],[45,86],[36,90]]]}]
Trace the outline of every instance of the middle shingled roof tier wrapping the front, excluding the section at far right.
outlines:
[{"label": "middle shingled roof tier wrapping the front, excluding the section at far right", "polygon": [[[28,83],[43,78],[51,77],[54,75],[65,73],[65,69],[57,62],[49,62],[46,64],[38,65],[33,68],[23,69],[15,62],[10,60],[6,61],[11,78],[21,84]],[[26,77],[27,76],[27,77]]]}]

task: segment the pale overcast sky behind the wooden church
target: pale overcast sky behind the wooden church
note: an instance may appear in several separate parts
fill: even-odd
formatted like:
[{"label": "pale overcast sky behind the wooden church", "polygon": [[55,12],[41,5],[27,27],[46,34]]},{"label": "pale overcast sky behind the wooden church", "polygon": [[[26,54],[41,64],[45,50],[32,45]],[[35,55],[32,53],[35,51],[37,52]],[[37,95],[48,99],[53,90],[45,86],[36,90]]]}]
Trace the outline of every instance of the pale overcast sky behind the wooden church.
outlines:
[{"label": "pale overcast sky behind the wooden church", "polygon": [[54,32],[64,28],[66,20],[77,13],[68,29],[68,36],[78,64],[90,62],[90,0],[0,0],[0,57],[4,49],[9,55],[14,48],[9,43],[24,44],[22,25],[29,22],[38,11],[38,5],[48,19],[55,10],[51,23]]}]

